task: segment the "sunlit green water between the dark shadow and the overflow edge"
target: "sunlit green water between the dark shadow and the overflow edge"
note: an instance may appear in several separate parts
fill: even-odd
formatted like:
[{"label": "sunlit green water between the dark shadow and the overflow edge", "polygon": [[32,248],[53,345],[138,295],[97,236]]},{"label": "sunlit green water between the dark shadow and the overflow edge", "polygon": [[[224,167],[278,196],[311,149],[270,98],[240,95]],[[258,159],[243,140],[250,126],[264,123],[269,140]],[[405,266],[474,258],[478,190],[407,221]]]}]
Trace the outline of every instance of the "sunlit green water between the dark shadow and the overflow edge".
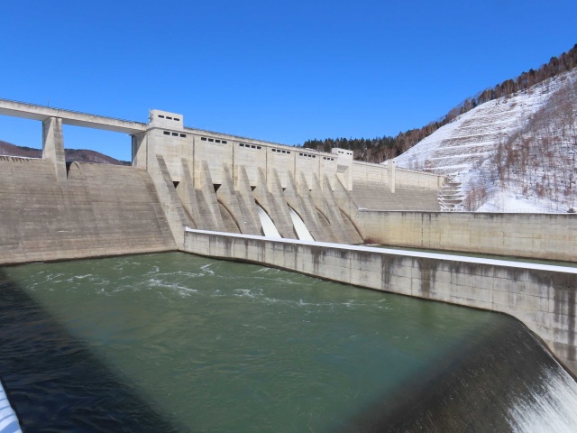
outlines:
[{"label": "sunlit green water between the dark shadow and the overflow edge", "polygon": [[511,320],[185,253],[4,272],[183,431],[343,428]]}]

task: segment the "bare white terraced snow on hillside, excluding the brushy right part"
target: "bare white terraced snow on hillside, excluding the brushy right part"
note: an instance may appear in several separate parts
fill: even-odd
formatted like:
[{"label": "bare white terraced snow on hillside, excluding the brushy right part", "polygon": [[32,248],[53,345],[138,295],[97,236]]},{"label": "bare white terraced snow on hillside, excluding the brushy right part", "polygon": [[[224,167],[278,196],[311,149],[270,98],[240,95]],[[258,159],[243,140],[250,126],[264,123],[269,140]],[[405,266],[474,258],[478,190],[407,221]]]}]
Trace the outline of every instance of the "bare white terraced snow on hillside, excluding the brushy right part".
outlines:
[{"label": "bare white terraced snow on hillside, excluding the brushy right part", "polygon": [[[551,105],[554,95],[571,88],[576,80],[577,69],[573,69],[527,91],[477,106],[400,155],[398,167],[432,171],[460,180],[463,196],[478,193],[479,197],[473,200],[474,206],[469,203],[472,210],[566,210],[566,203],[554,206],[551,200],[532,197],[527,186],[516,188],[515,182],[502,178],[496,182],[494,160],[499,149],[502,151],[505,145],[514,146],[514,138],[527,133],[527,123]],[[559,134],[553,134],[556,135]]]}]

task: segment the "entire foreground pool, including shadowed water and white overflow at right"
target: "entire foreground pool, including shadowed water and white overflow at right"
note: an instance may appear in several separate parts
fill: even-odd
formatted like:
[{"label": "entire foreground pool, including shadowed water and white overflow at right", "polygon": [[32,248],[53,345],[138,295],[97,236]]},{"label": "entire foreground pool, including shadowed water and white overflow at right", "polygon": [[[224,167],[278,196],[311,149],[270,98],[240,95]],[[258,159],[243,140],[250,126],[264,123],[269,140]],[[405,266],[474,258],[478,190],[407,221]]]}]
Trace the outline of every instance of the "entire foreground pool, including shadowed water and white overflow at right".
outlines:
[{"label": "entire foreground pool, including shadowed water and white overflow at right", "polygon": [[0,269],[24,431],[574,431],[515,319],[184,253]]}]

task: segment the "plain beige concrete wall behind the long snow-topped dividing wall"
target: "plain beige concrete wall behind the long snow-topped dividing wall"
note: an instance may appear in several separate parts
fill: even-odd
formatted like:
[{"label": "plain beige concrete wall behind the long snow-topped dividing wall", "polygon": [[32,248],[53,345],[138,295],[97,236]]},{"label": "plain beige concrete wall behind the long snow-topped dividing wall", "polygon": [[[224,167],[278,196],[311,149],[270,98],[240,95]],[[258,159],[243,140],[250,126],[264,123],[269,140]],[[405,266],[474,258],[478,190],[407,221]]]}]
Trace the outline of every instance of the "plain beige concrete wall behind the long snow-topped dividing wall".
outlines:
[{"label": "plain beige concrete wall behind the long snow-topped dividing wall", "polygon": [[359,211],[371,243],[577,262],[577,216]]}]

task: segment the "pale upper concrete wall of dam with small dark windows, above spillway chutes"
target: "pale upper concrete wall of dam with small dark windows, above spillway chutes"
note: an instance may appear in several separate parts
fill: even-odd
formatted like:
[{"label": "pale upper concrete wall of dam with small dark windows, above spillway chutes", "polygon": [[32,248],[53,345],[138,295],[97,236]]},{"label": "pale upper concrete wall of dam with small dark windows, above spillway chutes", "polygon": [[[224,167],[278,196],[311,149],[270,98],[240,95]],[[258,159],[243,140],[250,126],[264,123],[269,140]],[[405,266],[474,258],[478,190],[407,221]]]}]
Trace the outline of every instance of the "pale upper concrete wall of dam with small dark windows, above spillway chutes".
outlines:
[{"label": "pale upper concrete wall of dam with small dark windows, above spillway chutes", "polygon": [[[181,158],[186,158],[188,166],[193,171],[197,171],[203,161],[206,161],[210,178],[217,185],[224,182],[224,164],[231,169],[234,180],[238,179],[240,167],[244,167],[252,187],[261,181],[259,170],[264,170],[269,187],[271,182],[276,181],[273,174],[276,170],[283,189],[288,188],[290,175],[299,182],[301,172],[308,185],[314,183],[315,176],[319,180],[326,176],[332,189],[335,188],[337,173],[340,173],[341,182],[349,190],[353,188],[353,180],[381,185],[389,183],[385,166],[353,161],[352,151],[334,148],[332,153],[316,152],[187,128],[184,126],[183,115],[177,113],[151,110],[147,138],[147,141],[139,139],[138,143],[133,143],[133,165],[142,167],[140,146],[144,143],[143,145],[153,149],[153,154],[162,155],[173,181],[182,179]],[[438,189],[444,180],[443,176],[430,173],[410,170],[397,170],[397,172],[399,185]],[[197,179],[196,174],[193,174],[193,179]]]}]

